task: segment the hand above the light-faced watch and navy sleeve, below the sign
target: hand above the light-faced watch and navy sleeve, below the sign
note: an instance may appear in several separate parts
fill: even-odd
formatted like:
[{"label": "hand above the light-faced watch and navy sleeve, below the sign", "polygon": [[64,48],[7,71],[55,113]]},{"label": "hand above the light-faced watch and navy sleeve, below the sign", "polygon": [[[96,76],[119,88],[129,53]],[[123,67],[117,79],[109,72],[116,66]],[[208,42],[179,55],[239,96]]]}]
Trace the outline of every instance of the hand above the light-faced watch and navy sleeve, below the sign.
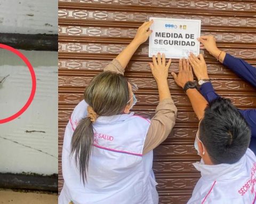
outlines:
[{"label": "hand above the light-faced watch and navy sleeve, below the sign", "polygon": [[198,81],[201,79],[209,79],[207,73],[207,66],[202,54],[199,54],[198,59],[193,53],[190,53],[188,60],[191,66],[193,67],[194,73]]}]

